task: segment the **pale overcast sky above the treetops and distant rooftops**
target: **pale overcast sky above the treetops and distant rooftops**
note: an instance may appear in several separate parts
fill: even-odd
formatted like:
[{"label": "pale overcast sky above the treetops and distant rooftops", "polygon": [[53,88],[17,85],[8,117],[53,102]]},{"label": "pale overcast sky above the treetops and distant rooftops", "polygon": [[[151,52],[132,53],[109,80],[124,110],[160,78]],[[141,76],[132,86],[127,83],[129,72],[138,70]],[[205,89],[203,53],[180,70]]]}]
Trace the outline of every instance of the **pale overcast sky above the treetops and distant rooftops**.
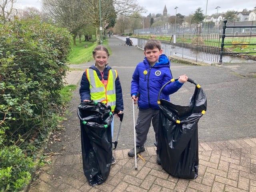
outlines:
[{"label": "pale overcast sky above the treetops and distant rooftops", "polygon": [[[26,6],[36,7],[38,9],[41,8],[40,0],[18,0],[18,5],[21,8],[25,8]],[[188,16],[189,14],[193,14],[195,10],[199,7],[202,8],[203,13],[207,15],[212,15],[217,13],[226,12],[228,10],[235,10],[241,12],[243,9],[253,10],[256,7],[256,0],[137,0],[138,4],[144,6],[148,12],[146,14],[142,14],[143,16],[147,16],[150,13],[163,13],[164,5],[166,5],[168,15],[175,15],[175,7],[177,6],[177,14],[180,13],[182,15]],[[207,10],[206,10],[207,7]]]}]

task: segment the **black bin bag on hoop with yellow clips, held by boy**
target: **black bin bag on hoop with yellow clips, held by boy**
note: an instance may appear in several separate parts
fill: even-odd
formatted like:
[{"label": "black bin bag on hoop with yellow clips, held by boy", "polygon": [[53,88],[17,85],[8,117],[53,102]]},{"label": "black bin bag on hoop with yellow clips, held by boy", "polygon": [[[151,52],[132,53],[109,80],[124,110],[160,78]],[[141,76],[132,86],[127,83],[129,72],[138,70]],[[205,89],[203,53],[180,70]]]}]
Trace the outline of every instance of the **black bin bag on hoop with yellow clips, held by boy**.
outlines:
[{"label": "black bin bag on hoop with yellow clips, held by boy", "polygon": [[178,178],[195,179],[198,176],[198,121],[206,112],[207,102],[200,85],[190,78],[188,82],[196,85],[188,106],[159,99],[164,86],[158,94],[160,120],[157,147],[166,172]]}]

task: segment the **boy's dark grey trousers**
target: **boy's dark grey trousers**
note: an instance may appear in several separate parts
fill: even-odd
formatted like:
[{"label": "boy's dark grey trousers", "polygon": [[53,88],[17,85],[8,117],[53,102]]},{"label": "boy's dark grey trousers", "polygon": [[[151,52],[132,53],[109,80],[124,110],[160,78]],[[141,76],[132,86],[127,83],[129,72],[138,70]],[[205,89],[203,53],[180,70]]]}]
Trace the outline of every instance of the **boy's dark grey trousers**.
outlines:
[{"label": "boy's dark grey trousers", "polygon": [[159,127],[159,109],[141,109],[139,108],[138,118],[136,122],[136,146],[143,146],[147,140],[148,130],[150,124],[152,125],[155,132],[156,142],[154,143],[157,146],[158,141],[158,127]]}]

